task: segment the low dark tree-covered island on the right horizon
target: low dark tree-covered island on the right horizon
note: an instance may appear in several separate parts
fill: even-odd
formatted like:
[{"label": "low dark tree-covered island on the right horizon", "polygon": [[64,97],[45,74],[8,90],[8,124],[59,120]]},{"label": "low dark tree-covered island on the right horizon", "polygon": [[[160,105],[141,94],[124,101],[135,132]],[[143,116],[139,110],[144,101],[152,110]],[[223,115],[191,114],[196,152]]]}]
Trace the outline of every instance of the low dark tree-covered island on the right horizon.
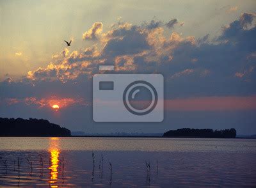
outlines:
[{"label": "low dark tree-covered island on the right horizon", "polygon": [[177,129],[164,132],[163,137],[213,137],[213,138],[234,138],[236,129],[212,130],[212,129]]}]

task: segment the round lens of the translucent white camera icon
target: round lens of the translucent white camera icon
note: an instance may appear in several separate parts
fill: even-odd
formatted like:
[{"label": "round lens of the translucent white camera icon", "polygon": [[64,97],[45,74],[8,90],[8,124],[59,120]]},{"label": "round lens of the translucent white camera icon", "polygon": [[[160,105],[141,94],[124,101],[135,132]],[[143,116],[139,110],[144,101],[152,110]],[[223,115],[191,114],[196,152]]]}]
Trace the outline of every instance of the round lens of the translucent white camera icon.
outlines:
[{"label": "round lens of the translucent white camera icon", "polygon": [[[131,102],[131,98],[134,99],[135,96],[137,95],[137,93],[139,93],[141,91],[145,91],[146,93],[144,93],[144,94],[147,96],[150,96],[149,102],[148,101],[138,101],[140,103],[146,104],[146,106],[144,106],[142,109],[140,107],[134,106],[134,104],[132,104],[132,102]],[[124,106],[130,113],[136,114],[139,116],[145,115],[145,114],[150,113],[156,107],[157,91],[154,88],[154,86],[152,86],[152,84],[150,84],[149,82],[135,81],[135,82],[132,82],[131,84],[129,84],[125,88],[124,95],[123,95],[123,102],[124,102]]]}]

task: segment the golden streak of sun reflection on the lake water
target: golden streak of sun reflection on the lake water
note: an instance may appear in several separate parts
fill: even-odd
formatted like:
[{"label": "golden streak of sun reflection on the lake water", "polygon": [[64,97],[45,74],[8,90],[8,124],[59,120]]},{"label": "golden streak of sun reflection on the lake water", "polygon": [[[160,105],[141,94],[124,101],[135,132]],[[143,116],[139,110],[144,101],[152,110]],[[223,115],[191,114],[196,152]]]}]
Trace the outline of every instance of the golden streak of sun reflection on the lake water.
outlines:
[{"label": "golden streak of sun reflection on the lake water", "polygon": [[[49,167],[49,169],[51,169],[51,180],[49,182],[50,184],[54,184],[58,180],[58,166],[60,162],[59,156],[61,152],[58,137],[51,137],[49,152],[51,153],[51,166]],[[51,187],[56,186],[52,185]]]}]

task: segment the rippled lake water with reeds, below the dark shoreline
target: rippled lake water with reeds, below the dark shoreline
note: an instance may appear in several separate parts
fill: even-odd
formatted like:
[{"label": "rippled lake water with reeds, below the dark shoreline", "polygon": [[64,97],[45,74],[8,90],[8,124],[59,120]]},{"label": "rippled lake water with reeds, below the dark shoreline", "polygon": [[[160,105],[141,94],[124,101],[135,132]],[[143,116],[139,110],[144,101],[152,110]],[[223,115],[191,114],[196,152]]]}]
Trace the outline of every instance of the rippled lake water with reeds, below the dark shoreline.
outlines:
[{"label": "rippled lake water with reeds, below the dark shoreline", "polygon": [[255,187],[256,139],[0,137],[0,185]]}]

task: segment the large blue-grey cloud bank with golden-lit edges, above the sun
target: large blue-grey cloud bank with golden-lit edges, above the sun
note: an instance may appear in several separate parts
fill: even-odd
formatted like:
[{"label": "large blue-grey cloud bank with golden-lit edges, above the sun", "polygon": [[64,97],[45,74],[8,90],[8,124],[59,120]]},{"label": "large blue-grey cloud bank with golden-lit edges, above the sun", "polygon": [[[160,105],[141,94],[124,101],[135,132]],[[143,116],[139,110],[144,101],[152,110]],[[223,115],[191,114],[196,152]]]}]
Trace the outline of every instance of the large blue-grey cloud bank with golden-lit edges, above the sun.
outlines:
[{"label": "large blue-grey cloud bank with golden-lit edges, above the sun", "polygon": [[17,82],[33,87],[42,82],[49,86],[57,82],[60,86],[65,83],[81,86],[81,79],[89,82],[93,74],[99,73],[99,65],[115,65],[118,74],[163,74],[167,91],[172,88],[167,98],[253,95],[254,18],[255,13],[243,13],[223,27],[221,35],[214,40],[209,40],[209,35],[195,38],[168,31],[177,19],[166,24],[152,20],[139,26],[118,22],[105,33],[102,33],[103,24],[95,22],[83,34],[84,39],[95,40],[94,45],[72,52],[66,48],[53,55],[47,67],[29,71],[20,81],[6,79],[1,86],[6,91]]}]

